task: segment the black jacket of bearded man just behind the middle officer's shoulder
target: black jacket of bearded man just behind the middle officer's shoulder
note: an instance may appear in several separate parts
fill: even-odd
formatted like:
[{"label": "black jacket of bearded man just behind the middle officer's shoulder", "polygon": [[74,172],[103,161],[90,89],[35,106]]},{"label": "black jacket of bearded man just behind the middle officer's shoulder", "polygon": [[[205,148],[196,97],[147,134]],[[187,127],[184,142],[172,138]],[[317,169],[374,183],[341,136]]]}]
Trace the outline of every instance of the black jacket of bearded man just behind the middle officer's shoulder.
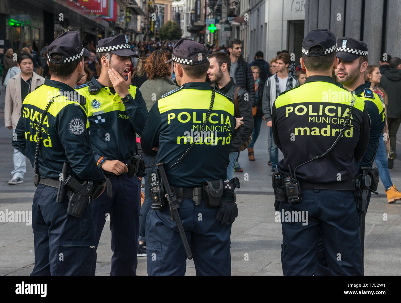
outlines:
[{"label": "black jacket of bearded man just behind the middle officer's shoulder", "polygon": [[[237,90],[237,85],[234,83],[233,78],[222,88],[215,85],[216,91],[225,94],[232,99],[234,103],[234,94]],[[253,86],[253,92],[255,92],[255,86]],[[244,117],[242,120],[244,122],[239,128],[235,130],[234,138],[231,142],[231,152],[240,152],[240,146],[247,142],[249,136],[251,136],[253,131],[253,115],[252,115],[252,105],[249,100],[245,100],[245,94],[248,92],[242,88],[238,91],[238,112],[235,113],[236,117]],[[235,106],[235,103],[234,103]],[[235,127],[235,126],[234,126]]]}]

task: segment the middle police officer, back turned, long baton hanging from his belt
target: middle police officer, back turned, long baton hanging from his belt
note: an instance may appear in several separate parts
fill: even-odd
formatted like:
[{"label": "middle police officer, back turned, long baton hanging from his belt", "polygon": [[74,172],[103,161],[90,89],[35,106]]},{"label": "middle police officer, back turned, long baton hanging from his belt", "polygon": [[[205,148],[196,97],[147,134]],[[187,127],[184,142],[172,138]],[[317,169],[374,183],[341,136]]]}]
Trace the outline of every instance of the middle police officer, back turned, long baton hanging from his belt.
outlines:
[{"label": "middle police officer, back turned, long baton hanging from his belt", "polygon": [[[179,215],[196,274],[231,275],[231,223],[238,213],[233,190],[239,185],[234,184],[235,178],[224,184],[223,180],[236,124],[234,104],[205,82],[209,52],[203,44],[182,38],[174,45],[171,60],[180,87],[163,95],[150,110],[142,149],[149,156],[158,149],[156,163],[164,163],[180,201]],[[209,199],[212,187],[216,199]],[[175,221],[169,207],[149,211],[148,275],[185,274],[186,251]]]}]

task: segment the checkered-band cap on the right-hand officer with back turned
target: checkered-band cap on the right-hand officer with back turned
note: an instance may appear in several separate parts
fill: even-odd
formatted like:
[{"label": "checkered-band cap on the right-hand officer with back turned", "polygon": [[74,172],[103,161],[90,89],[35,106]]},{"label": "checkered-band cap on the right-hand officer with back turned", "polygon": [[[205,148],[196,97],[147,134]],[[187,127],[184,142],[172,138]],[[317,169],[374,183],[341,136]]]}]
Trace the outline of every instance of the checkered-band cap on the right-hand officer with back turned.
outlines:
[{"label": "checkered-band cap on the right-hand officer with back turned", "polygon": [[[316,45],[321,46],[323,50],[311,54],[309,52],[310,48]],[[336,48],[336,36],[334,33],[331,30],[322,28],[311,30],[302,41],[302,53],[308,57],[325,56],[335,52]]]}]

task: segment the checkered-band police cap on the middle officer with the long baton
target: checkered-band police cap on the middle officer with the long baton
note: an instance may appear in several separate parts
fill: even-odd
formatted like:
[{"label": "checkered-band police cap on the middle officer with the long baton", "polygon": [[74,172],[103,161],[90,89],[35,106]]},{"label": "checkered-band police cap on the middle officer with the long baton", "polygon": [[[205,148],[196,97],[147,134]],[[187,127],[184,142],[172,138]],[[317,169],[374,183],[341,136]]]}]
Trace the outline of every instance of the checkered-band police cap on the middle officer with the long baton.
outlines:
[{"label": "checkered-band police cap on the middle officer with the long baton", "polygon": [[173,58],[166,63],[174,61],[179,64],[196,65],[209,62],[209,51],[206,46],[188,38],[178,40],[172,53]]}]

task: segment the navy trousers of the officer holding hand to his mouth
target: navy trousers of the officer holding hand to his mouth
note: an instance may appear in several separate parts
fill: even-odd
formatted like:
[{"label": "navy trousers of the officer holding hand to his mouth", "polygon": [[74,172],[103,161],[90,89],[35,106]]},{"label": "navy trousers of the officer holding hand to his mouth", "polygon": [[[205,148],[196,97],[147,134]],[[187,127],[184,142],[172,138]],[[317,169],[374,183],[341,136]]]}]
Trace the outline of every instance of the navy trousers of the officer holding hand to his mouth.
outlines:
[{"label": "navy trousers of the officer holding hand to his mouth", "polygon": [[[107,192],[93,200],[93,223],[95,226],[95,247],[97,249],[101,232],[107,220],[111,230],[111,271],[110,275],[136,275],[138,259],[139,210],[141,207],[141,181],[127,174],[106,175],[113,187],[113,197]],[[97,253],[92,263],[95,275]]]}]

